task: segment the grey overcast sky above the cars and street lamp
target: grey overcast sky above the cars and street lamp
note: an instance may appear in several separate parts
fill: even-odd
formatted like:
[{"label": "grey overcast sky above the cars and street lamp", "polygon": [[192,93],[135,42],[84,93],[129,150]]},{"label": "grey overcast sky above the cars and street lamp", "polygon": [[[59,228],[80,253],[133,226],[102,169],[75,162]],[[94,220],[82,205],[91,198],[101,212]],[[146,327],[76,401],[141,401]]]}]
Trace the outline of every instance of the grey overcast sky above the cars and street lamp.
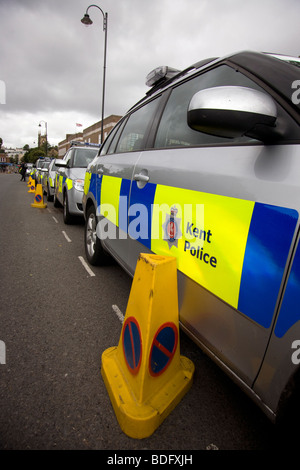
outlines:
[{"label": "grey overcast sky above the cars and street lamp", "polygon": [[[0,0],[0,137],[57,145],[101,119],[103,16],[108,13],[105,116],[123,115],[159,65],[183,69],[240,50],[300,55],[299,0]],[[79,128],[77,128],[79,130]]]}]

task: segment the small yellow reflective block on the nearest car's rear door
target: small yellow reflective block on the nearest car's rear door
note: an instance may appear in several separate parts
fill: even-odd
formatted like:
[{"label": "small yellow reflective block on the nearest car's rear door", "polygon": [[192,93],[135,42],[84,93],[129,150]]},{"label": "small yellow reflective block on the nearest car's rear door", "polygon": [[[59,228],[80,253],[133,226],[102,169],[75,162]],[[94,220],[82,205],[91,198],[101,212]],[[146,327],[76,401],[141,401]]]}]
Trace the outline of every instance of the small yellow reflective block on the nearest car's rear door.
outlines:
[{"label": "small yellow reflective block on the nearest car's rear door", "polygon": [[102,177],[100,213],[110,222],[119,225],[119,198],[122,178],[116,176]]}]

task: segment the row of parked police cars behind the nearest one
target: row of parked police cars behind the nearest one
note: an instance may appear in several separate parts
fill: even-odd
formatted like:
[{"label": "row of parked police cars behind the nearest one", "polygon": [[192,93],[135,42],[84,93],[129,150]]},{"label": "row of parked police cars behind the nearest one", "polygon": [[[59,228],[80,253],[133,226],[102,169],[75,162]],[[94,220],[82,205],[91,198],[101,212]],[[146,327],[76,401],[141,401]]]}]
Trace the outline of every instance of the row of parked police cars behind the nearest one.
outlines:
[{"label": "row of parked police cars behind the nearest one", "polygon": [[47,201],[54,206],[63,206],[63,219],[66,224],[75,217],[83,217],[82,197],[84,178],[88,164],[98,154],[100,145],[71,142],[62,159],[39,158],[31,176],[36,184],[41,184]]}]

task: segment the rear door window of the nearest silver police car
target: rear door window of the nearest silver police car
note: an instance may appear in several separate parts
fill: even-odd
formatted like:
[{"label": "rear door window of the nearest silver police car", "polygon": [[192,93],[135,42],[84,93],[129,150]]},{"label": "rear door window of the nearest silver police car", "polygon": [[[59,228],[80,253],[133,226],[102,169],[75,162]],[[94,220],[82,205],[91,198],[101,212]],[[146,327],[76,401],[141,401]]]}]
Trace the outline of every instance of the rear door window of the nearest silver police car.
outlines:
[{"label": "rear door window of the nearest silver police car", "polygon": [[158,99],[152,100],[129,116],[117,144],[116,153],[134,152],[144,148],[144,137],[157,105]]}]

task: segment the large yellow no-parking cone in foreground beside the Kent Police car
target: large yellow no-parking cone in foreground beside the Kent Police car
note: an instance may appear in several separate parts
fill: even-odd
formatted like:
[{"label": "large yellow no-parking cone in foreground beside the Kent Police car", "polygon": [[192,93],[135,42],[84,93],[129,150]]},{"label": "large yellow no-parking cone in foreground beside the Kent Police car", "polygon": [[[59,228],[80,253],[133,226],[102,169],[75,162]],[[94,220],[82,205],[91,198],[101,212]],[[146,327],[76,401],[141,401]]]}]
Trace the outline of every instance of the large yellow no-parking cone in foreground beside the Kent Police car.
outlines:
[{"label": "large yellow no-parking cone in foreground beside the Kent Police car", "polygon": [[141,254],[119,344],[102,354],[101,373],[123,432],[150,436],[192,385],[180,355],[176,258]]}]

